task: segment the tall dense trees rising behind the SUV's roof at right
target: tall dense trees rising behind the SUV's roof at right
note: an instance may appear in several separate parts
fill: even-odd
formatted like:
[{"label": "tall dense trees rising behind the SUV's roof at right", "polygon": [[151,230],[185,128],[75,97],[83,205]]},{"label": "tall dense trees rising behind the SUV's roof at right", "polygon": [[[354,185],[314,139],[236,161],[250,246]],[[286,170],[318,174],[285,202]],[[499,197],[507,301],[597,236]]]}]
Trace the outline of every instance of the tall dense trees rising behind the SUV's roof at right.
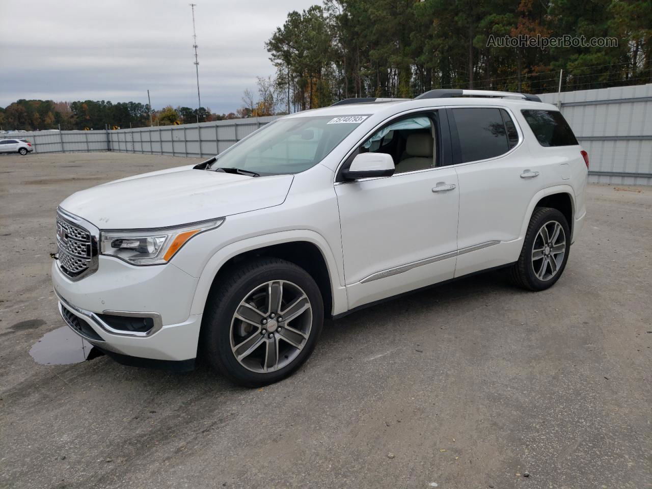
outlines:
[{"label": "tall dense trees rising behind the SUV's roof at right", "polygon": [[[537,35],[617,46],[488,46]],[[289,12],[265,46],[273,105],[284,111],[440,87],[543,93],[557,90],[560,70],[563,91],[642,84],[652,82],[652,2],[325,0]]]}]

